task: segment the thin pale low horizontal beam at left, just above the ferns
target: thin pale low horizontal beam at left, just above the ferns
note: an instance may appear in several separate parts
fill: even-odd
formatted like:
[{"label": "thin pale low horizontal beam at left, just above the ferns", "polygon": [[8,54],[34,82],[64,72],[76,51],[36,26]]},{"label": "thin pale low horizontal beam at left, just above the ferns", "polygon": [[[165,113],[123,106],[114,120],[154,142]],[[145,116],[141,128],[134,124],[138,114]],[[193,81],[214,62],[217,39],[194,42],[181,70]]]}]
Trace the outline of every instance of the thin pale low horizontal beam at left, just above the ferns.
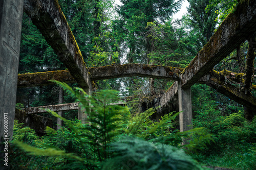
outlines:
[{"label": "thin pale low horizontal beam at left, just above the ferns", "polygon": [[65,103],[59,105],[49,105],[49,106],[39,106],[39,107],[29,107],[25,109],[27,114],[35,114],[35,113],[46,113],[46,110],[42,109],[50,109],[52,111],[67,111],[67,110],[78,110],[78,102],[76,103]]}]

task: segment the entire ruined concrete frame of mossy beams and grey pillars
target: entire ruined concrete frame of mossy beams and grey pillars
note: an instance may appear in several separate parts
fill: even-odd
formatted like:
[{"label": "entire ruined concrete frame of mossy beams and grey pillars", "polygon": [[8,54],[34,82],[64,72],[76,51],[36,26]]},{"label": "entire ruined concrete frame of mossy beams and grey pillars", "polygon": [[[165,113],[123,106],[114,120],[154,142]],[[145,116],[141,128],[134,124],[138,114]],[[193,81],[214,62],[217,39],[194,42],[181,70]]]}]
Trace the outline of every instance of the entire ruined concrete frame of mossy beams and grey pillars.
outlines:
[{"label": "entire ruined concrete frame of mossy beams and grey pillars", "polygon": [[[18,75],[18,79],[16,79],[17,56],[19,54],[18,49],[23,4],[18,0],[4,0],[1,1],[0,5],[2,10],[0,11],[1,58],[3,58],[3,60],[8,59],[8,62],[15,60],[15,67],[12,67],[11,74],[8,70],[11,68],[10,64],[2,64],[0,62],[0,80],[1,83],[3,83],[0,88],[0,111],[2,120],[4,119],[3,113],[9,113],[10,135],[12,134],[13,127],[16,99],[16,90],[14,89],[16,89],[16,85],[18,88],[50,85],[52,82],[48,82],[48,80],[52,79],[66,83],[77,82],[78,85],[88,93],[91,93],[92,91],[92,81],[94,80],[129,76],[174,80],[175,83],[161,95],[156,106],[159,106],[159,113],[172,111],[170,108],[175,107],[179,108],[179,111],[183,111],[180,113],[180,131],[190,129],[189,125],[191,125],[192,118],[190,87],[195,83],[211,86],[222,94],[228,96],[230,99],[249,108],[249,112],[247,112],[248,114],[245,115],[248,119],[251,119],[252,112],[256,111],[256,98],[249,92],[250,88],[256,88],[255,85],[252,85],[251,81],[251,78],[254,75],[254,70],[247,69],[245,75],[243,75],[244,80],[242,83],[244,83],[244,90],[236,88],[227,81],[227,79],[237,79],[241,82],[241,79],[238,78],[238,74],[230,71],[228,72],[227,70],[221,72],[213,70],[216,64],[235,50],[237,46],[246,40],[246,38],[250,38],[251,35],[256,32],[256,1],[254,0],[241,1],[237,10],[226,17],[216,33],[186,68],[147,64],[124,64],[87,68],[75,37],[71,32],[58,2],[56,0],[24,0],[25,12],[31,17],[34,25],[40,30],[47,42],[58,55],[60,61],[66,65],[68,70],[21,74]],[[14,13],[18,14],[13,16],[14,18],[11,18],[11,20],[15,19],[15,24],[8,25],[7,23],[9,21],[6,20],[8,9],[12,8],[14,5],[14,9],[16,9],[16,11],[14,10]],[[13,8],[11,10],[13,10]],[[9,15],[9,17],[11,16],[12,15]],[[16,31],[15,33],[11,33],[8,32],[8,30]],[[13,38],[14,34],[15,38]],[[13,42],[13,39],[15,42]],[[255,43],[249,42],[249,47],[250,49],[248,50],[249,52],[247,55],[254,55],[252,52],[255,50]],[[248,58],[251,59],[251,57]],[[247,65],[254,67],[254,59],[255,56],[253,56],[252,61],[247,62]],[[16,83],[17,80],[18,83]],[[10,94],[10,91],[12,91],[12,94]],[[8,100],[6,100],[7,97],[9,98]],[[67,104],[67,107],[71,107],[71,105],[73,104]],[[75,109],[77,109],[77,107]],[[57,109],[55,111],[60,110],[61,109]],[[86,115],[80,111],[79,119],[84,120],[85,117]],[[1,122],[1,135],[2,134],[4,134],[4,122]]]}]

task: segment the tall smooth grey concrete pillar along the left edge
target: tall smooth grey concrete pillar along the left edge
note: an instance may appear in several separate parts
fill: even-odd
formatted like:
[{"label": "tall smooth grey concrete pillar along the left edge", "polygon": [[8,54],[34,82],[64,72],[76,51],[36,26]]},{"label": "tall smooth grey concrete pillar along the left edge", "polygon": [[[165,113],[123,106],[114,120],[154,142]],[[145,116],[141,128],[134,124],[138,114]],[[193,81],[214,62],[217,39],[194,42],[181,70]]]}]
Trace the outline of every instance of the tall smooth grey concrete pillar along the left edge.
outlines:
[{"label": "tall smooth grey concrete pillar along the left edge", "polygon": [[[13,133],[22,16],[23,0],[0,0],[0,136],[4,141],[11,140]],[[6,146],[0,145],[0,169],[9,168],[2,161]]]}]

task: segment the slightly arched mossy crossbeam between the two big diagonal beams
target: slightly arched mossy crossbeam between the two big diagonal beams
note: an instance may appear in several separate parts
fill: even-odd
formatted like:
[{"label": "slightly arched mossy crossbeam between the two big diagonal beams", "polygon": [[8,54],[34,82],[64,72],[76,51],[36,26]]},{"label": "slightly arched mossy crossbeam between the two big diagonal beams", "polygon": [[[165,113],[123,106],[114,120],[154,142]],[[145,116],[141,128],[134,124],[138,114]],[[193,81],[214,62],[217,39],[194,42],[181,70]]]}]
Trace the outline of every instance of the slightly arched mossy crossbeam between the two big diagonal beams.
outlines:
[{"label": "slightly arched mossy crossbeam between the two big diagonal beams", "polygon": [[107,65],[88,68],[91,80],[113,79],[120,77],[149,77],[155,79],[179,80],[184,68],[149,64]]}]

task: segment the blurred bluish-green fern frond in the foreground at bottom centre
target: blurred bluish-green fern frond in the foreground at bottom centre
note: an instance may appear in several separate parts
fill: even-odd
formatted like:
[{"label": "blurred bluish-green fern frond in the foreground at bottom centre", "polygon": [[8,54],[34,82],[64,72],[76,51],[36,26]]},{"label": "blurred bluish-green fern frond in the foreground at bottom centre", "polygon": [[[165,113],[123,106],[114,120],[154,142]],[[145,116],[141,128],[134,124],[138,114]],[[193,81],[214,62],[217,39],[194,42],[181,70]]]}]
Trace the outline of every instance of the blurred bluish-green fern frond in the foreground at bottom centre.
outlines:
[{"label": "blurred bluish-green fern frond in the foreground at bottom centre", "polygon": [[170,145],[123,136],[111,146],[114,156],[105,162],[103,169],[207,169],[183,150]]}]

